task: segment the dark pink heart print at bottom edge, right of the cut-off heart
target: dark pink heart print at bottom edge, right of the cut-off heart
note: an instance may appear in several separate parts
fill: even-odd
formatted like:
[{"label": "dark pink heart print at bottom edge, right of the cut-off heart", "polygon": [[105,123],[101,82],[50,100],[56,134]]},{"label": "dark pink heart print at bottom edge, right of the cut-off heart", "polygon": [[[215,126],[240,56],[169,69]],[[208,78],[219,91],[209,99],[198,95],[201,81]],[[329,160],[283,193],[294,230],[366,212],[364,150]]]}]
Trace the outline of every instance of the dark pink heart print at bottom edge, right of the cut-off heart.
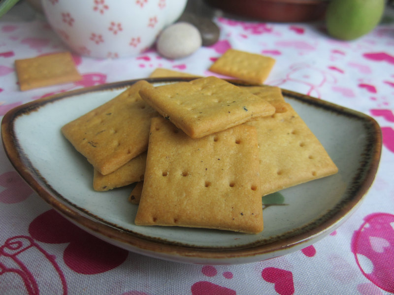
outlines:
[{"label": "dark pink heart print at bottom edge, right of the cut-off heart", "polygon": [[262,271],[264,281],[273,283],[275,291],[280,295],[294,294],[293,273],[276,267],[266,267]]}]

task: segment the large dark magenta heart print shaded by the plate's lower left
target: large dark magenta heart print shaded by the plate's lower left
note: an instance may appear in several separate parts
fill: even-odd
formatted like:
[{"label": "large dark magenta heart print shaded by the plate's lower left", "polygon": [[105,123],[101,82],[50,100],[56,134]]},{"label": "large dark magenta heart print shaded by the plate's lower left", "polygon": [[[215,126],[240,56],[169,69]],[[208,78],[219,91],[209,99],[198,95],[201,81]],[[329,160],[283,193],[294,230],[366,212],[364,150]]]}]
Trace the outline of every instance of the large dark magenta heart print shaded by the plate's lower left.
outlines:
[{"label": "large dark magenta heart print shaded by the plate's lower left", "polygon": [[68,243],[63,260],[77,273],[102,273],[120,266],[128,256],[128,251],[82,231],[53,209],[31,222],[29,234],[44,243]]}]

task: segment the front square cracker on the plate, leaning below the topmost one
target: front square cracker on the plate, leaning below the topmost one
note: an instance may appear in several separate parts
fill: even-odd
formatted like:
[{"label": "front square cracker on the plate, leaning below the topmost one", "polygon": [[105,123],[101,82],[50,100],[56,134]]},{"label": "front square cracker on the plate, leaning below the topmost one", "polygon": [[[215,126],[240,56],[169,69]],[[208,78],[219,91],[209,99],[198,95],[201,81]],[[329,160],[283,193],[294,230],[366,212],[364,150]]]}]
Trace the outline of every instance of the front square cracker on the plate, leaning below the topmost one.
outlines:
[{"label": "front square cracker on the plate, leaning below the topmost one", "polygon": [[263,230],[256,128],[191,139],[153,118],[137,225]]}]

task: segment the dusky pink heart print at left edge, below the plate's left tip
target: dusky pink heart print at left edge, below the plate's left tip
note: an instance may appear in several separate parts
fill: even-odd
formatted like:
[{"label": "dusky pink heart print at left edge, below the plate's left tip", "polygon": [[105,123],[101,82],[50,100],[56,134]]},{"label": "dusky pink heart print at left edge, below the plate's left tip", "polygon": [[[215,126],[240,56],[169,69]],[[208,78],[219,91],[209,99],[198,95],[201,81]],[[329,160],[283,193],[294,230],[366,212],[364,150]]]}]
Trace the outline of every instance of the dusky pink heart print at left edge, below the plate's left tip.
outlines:
[{"label": "dusky pink heart print at left edge, below the plate's left tip", "polygon": [[0,191],[0,202],[15,204],[25,201],[33,190],[15,171],[9,171],[0,175],[0,186],[5,188]]}]

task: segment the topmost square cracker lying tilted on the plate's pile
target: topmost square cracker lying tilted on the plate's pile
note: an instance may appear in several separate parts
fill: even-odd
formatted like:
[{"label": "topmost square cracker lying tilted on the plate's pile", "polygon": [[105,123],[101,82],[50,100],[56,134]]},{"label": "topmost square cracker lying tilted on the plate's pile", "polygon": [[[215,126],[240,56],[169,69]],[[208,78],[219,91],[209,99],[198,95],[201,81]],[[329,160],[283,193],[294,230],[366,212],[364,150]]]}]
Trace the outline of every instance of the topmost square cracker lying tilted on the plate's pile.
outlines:
[{"label": "topmost square cracker lying tilted on the plate's pile", "polygon": [[216,77],[144,87],[141,97],[191,138],[219,132],[275,108],[245,89]]}]

